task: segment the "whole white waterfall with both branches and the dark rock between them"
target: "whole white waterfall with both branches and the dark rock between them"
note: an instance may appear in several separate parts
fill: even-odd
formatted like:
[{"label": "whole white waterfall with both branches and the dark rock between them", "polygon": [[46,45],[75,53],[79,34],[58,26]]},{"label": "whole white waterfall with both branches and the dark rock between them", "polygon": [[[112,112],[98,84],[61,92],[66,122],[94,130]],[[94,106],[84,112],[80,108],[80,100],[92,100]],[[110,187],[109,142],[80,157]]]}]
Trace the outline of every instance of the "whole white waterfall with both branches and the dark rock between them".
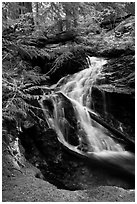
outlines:
[{"label": "whole white waterfall with both branches and the dark rock between them", "polygon": [[[89,67],[73,76],[61,79],[52,86],[55,92],[44,95],[40,105],[49,127],[69,150],[88,158],[105,161],[134,174],[134,155],[114,140],[106,128],[91,119],[92,86],[99,77],[106,60],[89,57]],[[49,111],[46,101],[53,110]]]}]

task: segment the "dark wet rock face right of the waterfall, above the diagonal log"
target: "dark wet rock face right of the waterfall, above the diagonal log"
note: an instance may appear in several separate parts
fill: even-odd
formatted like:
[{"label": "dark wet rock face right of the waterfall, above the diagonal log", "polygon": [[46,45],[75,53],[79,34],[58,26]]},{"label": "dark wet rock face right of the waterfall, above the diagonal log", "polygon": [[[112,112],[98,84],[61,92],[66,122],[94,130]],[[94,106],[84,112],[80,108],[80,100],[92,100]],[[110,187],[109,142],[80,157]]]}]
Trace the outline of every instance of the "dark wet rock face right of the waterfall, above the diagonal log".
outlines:
[{"label": "dark wet rock face right of the waterfall, above the diagonal log", "polygon": [[106,122],[132,139],[135,134],[134,72],[134,55],[110,59],[103,67],[102,78],[92,87],[91,105]]}]

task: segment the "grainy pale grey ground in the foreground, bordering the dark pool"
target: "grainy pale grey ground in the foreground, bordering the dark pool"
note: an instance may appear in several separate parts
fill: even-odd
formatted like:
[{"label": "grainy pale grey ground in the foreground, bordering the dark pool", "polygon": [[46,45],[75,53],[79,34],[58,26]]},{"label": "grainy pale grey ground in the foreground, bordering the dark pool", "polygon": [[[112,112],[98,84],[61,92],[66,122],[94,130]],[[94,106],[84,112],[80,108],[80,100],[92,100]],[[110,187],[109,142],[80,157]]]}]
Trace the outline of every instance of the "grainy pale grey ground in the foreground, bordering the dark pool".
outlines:
[{"label": "grainy pale grey ground in the foreground, bordering the dark pool", "polygon": [[135,191],[100,186],[69,191],[36,178],[39,170],[27,163],[21,171],[13,169],[9,157],[3,158],[3,202],[134,202]]}]

